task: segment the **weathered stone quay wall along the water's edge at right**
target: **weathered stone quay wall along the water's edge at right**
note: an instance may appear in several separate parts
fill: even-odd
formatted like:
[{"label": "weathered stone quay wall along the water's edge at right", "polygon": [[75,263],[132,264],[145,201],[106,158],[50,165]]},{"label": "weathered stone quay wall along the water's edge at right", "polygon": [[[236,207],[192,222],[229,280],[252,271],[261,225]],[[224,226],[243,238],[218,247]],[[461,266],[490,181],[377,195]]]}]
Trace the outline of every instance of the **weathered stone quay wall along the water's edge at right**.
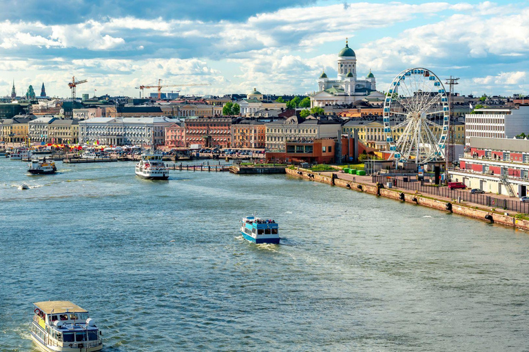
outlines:
[{"label": "weathered stone quay wall along the water's edge at right", "polygon": [[[450,202],[444,199],[438,199],[432,197],[431,195],[425,197],[420,194],[406,193],[402,192],[401,190],[391,188],[380,188],[379,190],[377,186],[369,184],[360,184],[358,182],[353,181],[346,181],[345,179],[333,179],[332,177],[312,173],[310,170],[292,170],[287,168],[285,171],[287,175],[291,175],[294,177],[309,179],[311,181],[317,181],[324,184],[329,184],[331,186],[349,188],[357,192],[366,192],[371,195],[395,199],[397,201],[403,201],[401,198],[401,193],[403,193],[404,201],[406,203],[413,203],[418,206],[427,206],[428,208],[434,208],[437,210],[442,210],[444,212],[453,212],[454,214],[464,215],[466,217],[472,217],[474,219],[479,219],[490,223],[500,223],[502,225],[507,225],[514,228],[529,230],[529,220],[517,219],[509,214],[501,214],[497,211],[492,212],[483,208],[470,208],[468,206],[461,205],[457,202]],[[452,208],[451,210],[448,210],[448,204],[450,204]]]}]

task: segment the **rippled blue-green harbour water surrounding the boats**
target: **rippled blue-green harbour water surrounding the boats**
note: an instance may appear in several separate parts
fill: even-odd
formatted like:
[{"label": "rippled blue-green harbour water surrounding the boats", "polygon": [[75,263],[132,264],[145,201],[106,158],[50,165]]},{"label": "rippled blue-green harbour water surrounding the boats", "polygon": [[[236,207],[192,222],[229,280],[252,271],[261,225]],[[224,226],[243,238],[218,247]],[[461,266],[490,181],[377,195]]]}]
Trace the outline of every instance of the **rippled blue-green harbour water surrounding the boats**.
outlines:
[{"label": "rippled blue-green harbour water surrounding the boats", "polygon": [[[0,159],[0,351],[35,350],[41,300],[103,351],[528,349],[526,232],[285,175],[57,167]],[[254,211],[281,245],[241,239]]]}]

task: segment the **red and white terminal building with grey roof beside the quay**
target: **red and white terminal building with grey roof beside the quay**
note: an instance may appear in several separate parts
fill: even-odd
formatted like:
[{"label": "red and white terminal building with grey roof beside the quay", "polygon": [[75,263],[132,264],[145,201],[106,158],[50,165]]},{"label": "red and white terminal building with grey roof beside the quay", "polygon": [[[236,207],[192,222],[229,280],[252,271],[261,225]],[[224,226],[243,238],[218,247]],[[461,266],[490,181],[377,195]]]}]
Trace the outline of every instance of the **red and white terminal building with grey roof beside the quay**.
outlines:
[{"label": "red and white terminal building with grey roof beside the quay", "polygon": [[510,197],[525,197],[529,189],[529,140],[470,137],[470,151],[459,155],[459,168],[448,171],[452,181],[464,182]]}]

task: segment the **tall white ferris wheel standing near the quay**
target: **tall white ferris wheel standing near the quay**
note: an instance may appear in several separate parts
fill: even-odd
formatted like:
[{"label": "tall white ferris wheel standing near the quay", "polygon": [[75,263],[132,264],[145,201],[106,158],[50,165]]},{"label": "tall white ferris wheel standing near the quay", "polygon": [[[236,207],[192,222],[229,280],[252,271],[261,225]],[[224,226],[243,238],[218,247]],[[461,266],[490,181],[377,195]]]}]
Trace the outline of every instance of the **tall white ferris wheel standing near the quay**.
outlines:
[{"label": "tall white ferris wheel standing near the quay", "polygon": [[450,115],[442,81],[429,69],[405,69],[384,100],[384,133],[396,162],[444,159]]}]

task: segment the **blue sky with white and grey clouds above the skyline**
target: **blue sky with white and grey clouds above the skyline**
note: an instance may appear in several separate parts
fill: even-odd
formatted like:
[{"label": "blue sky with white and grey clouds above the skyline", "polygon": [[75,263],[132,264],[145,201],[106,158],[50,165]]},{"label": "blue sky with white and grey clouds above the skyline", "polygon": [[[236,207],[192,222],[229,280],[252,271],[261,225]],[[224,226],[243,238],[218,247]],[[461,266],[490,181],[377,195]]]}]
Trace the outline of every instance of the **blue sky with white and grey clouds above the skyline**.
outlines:
[{"label": "blue sky with white and grey clouds above the skyline", "polygon": [[[459,77],[468,95],[529,94],[529,0],[0,0],[0,96],[311,94],[349,38],[377,89],[411,67]],[[154,92],[155,89],[147,92]]]}]

